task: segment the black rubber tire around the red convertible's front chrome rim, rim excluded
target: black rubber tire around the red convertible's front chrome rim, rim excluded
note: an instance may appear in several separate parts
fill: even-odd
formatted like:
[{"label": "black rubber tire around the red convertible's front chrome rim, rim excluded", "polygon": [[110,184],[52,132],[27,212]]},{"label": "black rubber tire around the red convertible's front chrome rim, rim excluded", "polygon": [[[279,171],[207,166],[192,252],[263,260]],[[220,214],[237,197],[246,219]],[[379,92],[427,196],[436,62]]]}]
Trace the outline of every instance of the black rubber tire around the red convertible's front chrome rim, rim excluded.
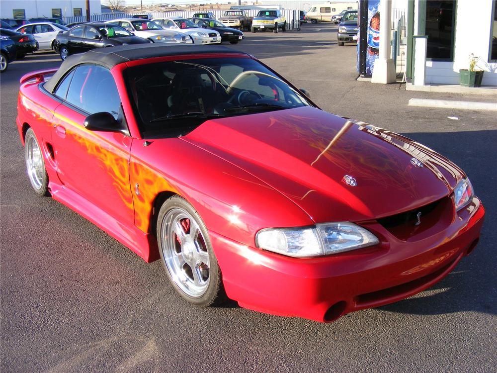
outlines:
[{"label": "black rubber tire around the red convertible's front chrome rim, rim excluded", "polygon": [[[166,261],[164,259],[164,254],[162,251],[162,240],[163,237],[161,235],[161,230],[162,230],[162,224],[164,217],[166,216],[167,212],[172,209],[172,208],[180,208],[182,210],[185,210],[191,217],[193,217],[196,220],[196,223],[199,226],[200,231],[202,232],[202,235],[204,237],[204,242],[205,246],[207,248],[207,252],[209,253],[209,285],[207,286],[207,290],[205,291],[202,296],[198,298],[193,298],[187,294],[185,294],[173,281],[169,270],[167,269]],[[157,216],[157,243],[159,246],[159,254],[161,255],[161,261],[164,269],[166,270],[167,277],[169,279],[169,282],[172,284],[174,289],[188,302],[195,304],[197,306],[201,307],[208,307],[213,304],[218,304],[221,303],[223,300],[225,300],[225,292],[224,292],[224,287],[223,287],[223,282],[222,282],[222,275],[221,275],[221,270],[219,268],[219,264],[217,262],[216,256],[214,254],[214,250],[212,249],[212,244],[210,241],[209,233],[207,231],[207,228],[205,226],[204,221],[198,214],[198,212],[191,206],[185,199],[182,197],[175,195],[170,197],[169,199],[166,199],[166,201],[163,203],[161,206],[161,209],[159,210],[159,214]]]}]

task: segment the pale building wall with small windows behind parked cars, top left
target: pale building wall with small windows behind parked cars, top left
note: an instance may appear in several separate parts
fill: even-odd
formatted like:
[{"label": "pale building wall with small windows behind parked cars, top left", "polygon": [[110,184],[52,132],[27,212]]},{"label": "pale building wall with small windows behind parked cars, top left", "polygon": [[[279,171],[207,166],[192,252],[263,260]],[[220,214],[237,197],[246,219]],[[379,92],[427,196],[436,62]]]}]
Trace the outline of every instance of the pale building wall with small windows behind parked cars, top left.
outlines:
[{"label": "pale building wall with small windows behind parked cars, top left", "polygon": [[[14,9],[24,9],[26,18],[52,17],[52,9],[62,9],[62,17],[72,17],[74,8],[86,15],[86,0],[1,0],[0,18],[13,18]],[[101,14],[100,0],[90,0],[90,14]]]}]

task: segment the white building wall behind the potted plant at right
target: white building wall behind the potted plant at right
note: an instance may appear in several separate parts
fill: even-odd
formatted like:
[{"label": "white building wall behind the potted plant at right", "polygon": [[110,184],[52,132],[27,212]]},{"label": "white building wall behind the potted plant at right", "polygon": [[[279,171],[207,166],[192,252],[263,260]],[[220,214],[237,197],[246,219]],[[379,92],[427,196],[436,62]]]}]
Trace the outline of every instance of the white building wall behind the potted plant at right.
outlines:
[{"label": "white building wall behind the potted plant at right", "polygon": [[426,61],[426,84],[459,84],[459,69],[469,68],[473,53],[480,57],[477,69],[486,71],[482,85],[497,86],[497,63],[488,62],[493,1],[459,0],[456,4],[454,61]]}]

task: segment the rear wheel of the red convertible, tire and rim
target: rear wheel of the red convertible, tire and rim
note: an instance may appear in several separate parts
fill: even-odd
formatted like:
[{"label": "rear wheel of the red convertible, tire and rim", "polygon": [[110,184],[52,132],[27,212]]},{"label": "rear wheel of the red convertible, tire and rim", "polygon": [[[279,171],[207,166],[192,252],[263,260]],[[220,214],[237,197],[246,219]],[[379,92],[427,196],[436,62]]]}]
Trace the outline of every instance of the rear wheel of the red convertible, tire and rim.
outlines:
[{"label": "rear wheel of the red convertible, tire and rim", "polygon": [[29,128],[24,137],[24,160],[31,187],[38,195],[50,195],[48,192],[48,174],[40,144],[34,131]]}]

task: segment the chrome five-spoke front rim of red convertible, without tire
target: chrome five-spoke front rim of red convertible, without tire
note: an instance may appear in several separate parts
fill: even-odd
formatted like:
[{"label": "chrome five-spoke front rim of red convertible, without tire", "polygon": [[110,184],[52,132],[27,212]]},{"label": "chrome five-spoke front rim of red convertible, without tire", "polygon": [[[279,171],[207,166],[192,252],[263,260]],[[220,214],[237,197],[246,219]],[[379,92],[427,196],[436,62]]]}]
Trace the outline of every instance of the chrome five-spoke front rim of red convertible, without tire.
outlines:
[{"label": "chrome five-spoke front rim of red convertible, without tire", "polygon": [[171,280],[188,297],[204,295],[211,268],[198,222],[182,208],[171,208],[164,215],[160,233],[160,250]]}]

